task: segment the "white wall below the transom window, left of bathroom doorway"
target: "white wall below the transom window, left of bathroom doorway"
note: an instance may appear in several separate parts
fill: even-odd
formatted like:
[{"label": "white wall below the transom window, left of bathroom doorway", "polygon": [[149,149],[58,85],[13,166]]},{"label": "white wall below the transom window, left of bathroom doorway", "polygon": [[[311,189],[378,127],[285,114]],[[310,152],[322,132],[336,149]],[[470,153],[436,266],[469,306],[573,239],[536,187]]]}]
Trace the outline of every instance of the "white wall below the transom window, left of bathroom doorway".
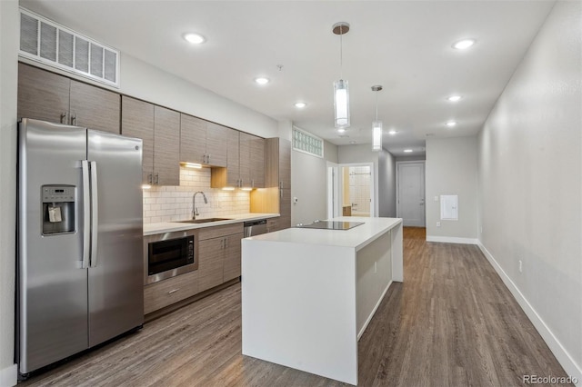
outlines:
[{"label": "white wall below the transom window, left of bathroom doorway", "polygon": [[327,165],[337,163],[337,146],[324,142],[324,158],[291,151],[291,224],[327,218]]}]

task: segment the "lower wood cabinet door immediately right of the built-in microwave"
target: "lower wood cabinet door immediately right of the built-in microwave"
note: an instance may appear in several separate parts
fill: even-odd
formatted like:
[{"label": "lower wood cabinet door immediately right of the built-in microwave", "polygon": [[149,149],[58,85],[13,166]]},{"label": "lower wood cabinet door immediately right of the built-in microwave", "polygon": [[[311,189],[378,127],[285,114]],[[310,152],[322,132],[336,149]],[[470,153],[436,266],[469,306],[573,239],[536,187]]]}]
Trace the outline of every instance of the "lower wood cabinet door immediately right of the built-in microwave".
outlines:
[{"label": "lower wood cabinet door immediately right of the built-in microwave", "polygon": [[198,243],[198,292],[223,283],[224,241],[220,237]]}]

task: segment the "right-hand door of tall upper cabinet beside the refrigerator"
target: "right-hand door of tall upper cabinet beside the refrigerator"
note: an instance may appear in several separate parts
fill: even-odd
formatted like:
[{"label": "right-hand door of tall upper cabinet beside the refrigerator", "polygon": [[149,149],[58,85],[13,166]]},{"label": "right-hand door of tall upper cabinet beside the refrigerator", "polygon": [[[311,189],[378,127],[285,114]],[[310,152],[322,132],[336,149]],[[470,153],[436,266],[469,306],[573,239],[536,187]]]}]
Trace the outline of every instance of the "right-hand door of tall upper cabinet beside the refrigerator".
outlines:
[{"label": "right-hand door of tall upper cabinet beside the refrigerator", "polygon": [[180,185],[180,114],[154,106],[154,183]]}]

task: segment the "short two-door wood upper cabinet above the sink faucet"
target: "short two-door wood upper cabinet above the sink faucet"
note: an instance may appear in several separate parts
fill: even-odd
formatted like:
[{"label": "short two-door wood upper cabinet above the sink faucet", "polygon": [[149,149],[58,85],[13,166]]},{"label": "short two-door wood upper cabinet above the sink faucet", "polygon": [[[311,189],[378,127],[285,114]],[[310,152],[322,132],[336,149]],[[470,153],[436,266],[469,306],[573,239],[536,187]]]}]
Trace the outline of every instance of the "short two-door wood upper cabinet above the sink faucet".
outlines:
[{"label": "short two-door wood upper cabinet above the sink faucet", "polygon": [[225,142],[234,130],[189,114],[181,115],[180,161],[226,167]]}]

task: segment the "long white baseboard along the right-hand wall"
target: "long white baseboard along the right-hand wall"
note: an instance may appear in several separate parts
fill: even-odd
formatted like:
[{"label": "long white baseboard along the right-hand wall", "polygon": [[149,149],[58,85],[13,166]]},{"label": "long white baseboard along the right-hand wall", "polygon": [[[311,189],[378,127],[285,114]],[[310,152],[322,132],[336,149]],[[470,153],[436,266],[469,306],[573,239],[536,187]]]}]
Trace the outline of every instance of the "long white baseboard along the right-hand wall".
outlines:
[{"label": "long white baseboard along the right-hand wall", "polygon": [[539,314],[537,314],[536,310],[532,307],[530,303],[527,302],[526,297],[519,291],[516,284],[509,278],[507,273],[503,270],[503,268],[497,263],[493,255],[487,251],[485,246],[477,241],[477,245],[481,252],[487,257],[487,261],[491,263],[499,277],[503,283],[506,284],[507,289],[509,292],[513,294],[514,298],[516,299],[521,309],[526,313],[527,318],[537,329],[537,332],[542,336],[544,341],[547,343],[550,351],[554,353],[556,356],[557,362],[560,363],[564,371],[571,376],[572,378],[576,378],[577,382],[575,383],[577,386],[582,386],[582,368],[579,364],[577,364],[574,359],[570,356],[567,352],[566,348],[562,345],[557,337],[554,335],[552,331],[550,331],[549,327],[546,323],[541,319]]}]

